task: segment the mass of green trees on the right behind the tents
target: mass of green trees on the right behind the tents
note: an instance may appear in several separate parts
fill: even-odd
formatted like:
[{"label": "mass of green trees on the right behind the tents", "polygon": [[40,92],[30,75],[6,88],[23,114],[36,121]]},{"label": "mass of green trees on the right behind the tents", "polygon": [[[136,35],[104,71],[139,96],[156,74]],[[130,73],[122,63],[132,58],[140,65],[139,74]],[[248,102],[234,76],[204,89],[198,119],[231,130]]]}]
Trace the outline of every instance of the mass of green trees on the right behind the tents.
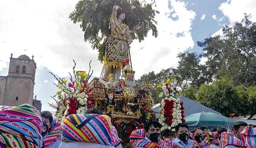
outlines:
[{"label": "mass of green trees on the right behind the tents", "polygon": [[[140,82],[175,77],[184,95],[225,116],[256,114],[256,23],[250,15],[222,29],[223,36],[198,41],[202,53],[179,53],[178,67],[142,75]],[[200,64],[201,58],[205,64]],[[156,84],[157,85],[157,84]],[[160,102],[156,93],[155,102]],[[232,115],[233,116],[233,115]]]}]

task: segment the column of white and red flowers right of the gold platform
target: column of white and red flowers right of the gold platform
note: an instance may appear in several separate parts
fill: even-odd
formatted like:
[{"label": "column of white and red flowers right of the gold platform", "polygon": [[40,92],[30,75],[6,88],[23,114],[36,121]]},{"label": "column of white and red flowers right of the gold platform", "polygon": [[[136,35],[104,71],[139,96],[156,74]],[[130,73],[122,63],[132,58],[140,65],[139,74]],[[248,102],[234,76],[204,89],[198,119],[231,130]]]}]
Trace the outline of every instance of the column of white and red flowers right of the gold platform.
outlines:
[{"label": "column of white and red flowers right of the gold platform", "polygon": [[177,82],[171,77],[157,87],[162,88],[163,92],[160,93],[160,97],[164,98],[159,109],[159,122],[162,124],[161,131],[174,131],[174,127],[178,123],[185,122],[183,102],[175,96],[178,92]]}]

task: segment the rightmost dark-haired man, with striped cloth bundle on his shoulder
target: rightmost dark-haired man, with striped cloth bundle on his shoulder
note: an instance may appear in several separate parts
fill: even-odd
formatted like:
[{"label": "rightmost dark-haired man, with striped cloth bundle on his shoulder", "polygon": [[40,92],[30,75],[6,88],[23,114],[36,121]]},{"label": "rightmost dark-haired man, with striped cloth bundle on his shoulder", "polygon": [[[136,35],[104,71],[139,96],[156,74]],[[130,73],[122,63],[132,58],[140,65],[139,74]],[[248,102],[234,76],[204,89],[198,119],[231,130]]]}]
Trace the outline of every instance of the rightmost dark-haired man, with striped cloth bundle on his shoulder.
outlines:
[{"label": "rightmost dark-haired man, with striped cloth bundle on his shoulder", "polygon": [[247,126],[246,122],[238,121],[233,125],[234,132],[222,132],[221,148],[246,148],[241,140],[240,132]]}]

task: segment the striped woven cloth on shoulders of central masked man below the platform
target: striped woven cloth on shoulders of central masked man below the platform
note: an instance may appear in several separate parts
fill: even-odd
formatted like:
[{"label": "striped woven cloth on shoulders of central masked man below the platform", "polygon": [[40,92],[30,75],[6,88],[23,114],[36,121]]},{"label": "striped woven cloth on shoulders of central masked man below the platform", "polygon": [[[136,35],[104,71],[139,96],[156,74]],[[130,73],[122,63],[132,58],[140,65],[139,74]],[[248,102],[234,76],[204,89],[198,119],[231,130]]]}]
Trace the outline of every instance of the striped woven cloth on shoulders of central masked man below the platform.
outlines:
[{"label": "striped woven cloth on shoulders of central masked man below the platform", "polygon": [[144,148],[166,148],[166,142],[164,140],[159,139],[158,143],[156,142],[150,142],[145,139],[145,134],[146,132],[144,129],[137,129],[132,131],[129,139],[130,139],[130,144],[132,148],[136,147],[144,147]]}]

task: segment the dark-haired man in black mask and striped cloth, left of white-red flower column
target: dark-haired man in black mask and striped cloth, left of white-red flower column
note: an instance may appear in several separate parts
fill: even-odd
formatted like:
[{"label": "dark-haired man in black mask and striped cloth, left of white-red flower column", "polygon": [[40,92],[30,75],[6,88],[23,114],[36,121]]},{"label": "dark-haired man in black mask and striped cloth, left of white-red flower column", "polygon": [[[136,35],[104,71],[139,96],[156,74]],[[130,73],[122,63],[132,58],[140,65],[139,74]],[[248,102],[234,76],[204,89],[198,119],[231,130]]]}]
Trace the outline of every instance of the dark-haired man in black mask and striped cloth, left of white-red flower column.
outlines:
[{"label": "dark-haired man in black mask and striped cloth, left of white-red flower column", "polygon": [[161,127],[158,121],[150,119],[144,124],[144,129],[132,131],[129,138],[132,148],[167,148],[160,138]]}]

